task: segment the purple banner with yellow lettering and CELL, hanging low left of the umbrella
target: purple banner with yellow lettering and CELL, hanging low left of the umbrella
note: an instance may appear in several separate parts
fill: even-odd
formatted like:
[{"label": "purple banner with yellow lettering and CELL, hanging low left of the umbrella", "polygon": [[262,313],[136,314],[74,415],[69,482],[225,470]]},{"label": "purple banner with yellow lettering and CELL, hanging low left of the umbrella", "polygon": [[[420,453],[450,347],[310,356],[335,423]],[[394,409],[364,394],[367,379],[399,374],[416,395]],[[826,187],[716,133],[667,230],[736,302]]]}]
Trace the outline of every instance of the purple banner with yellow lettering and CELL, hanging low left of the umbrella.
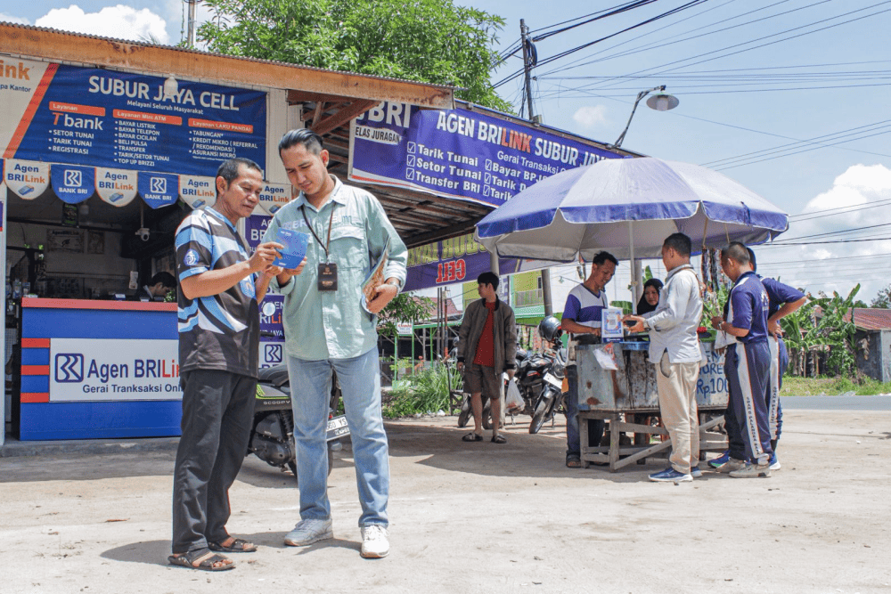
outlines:
[{"label": "purple banner with yellow lettering and CELL, hanging low left of the umbrella", "polygon": [[[522,273],[546,268],[556,262],[499,258],[501,274]],[[476,282],[482,273],[492,270],[489,252],[473,240],[473,233],[451,240],[437,241],[408,250],[408,275],[405,290],[429,289],[456,282]]]}]

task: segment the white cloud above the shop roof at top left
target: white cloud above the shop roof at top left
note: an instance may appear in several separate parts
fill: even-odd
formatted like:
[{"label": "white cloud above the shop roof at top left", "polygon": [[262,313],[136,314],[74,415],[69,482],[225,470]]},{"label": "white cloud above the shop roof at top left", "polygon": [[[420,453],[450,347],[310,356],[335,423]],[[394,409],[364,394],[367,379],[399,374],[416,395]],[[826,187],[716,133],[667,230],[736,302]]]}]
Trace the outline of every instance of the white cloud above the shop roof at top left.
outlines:
[{"label": "white cloud above the shop roof at top left", "polygon": [[53,8],[35,22],[37,27],[57,28],[75,33],[101,37],[168,43],[167,23],[147,8],[135,10],[118,4],[106,6],[99,12],[84,12],[77,4],[68,8]]}]

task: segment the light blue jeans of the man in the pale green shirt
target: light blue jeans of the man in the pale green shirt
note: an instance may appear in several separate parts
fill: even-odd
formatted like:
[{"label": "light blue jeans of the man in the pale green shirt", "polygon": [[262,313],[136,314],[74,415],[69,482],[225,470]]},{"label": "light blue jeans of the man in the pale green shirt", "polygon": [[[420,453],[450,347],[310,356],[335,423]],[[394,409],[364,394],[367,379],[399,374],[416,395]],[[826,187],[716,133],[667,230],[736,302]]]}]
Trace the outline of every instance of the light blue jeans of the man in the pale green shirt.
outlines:
[{"label": "light blue jeans of the man in the pale green shirt", "polygon": [[359,525],[387,527],[389,448],[380,413],[380,364],[376,348],[352,359],[306,361],[288,357],[300,517],[305,520],[331,517],[325,428],[332,369],[337,371],[340,381],[353,442],[356,484],[362,505]]}]

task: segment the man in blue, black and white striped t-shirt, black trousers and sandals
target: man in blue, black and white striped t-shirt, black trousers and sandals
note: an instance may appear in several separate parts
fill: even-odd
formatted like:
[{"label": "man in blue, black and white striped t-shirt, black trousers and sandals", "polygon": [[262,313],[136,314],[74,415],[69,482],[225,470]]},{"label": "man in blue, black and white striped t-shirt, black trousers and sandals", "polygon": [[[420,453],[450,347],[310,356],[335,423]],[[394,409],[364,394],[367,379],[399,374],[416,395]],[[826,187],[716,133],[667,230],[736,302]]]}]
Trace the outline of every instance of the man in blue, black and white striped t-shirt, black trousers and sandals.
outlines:
[{"label": "man in blue, black and white striped t-shirt, black trousers and sandals", "polygon": [[[260,167],[229,159],[217,171],[217,202],[195,210],[176,230],[179,364],[183,435],[176,452],[171,565],[219,571],[253,544],[226,531],[229,487],[248,449],[257,392],[259,310],[281,244],[248,256],[235,225],[263,190]],[[215,552],[217,551],[217,552]]]}]

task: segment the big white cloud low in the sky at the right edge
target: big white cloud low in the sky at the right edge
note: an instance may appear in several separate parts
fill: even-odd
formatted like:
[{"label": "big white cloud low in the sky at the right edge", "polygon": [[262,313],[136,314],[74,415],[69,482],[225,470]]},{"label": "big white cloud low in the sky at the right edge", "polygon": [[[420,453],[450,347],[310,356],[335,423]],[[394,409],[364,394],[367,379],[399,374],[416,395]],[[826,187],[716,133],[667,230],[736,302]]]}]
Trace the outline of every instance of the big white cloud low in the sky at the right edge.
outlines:
[{"label": "big white cloud low in the sky at the right edge", "polygon": [[[854,165],[838,175],[832,187],[811,199],[801,216],[794,216],[789,231],[778,240],[802,238],[801,241],[857,240],[891,237],[891,226],[878,226],[862,232],[841,233],[848,229],[891,222],[891,204],[868,207],[882,200],[891,200],[891,169],[881,165]],[[825,212],[839,207],[865,207],[854,211]],[[811,218],[811,216],[821,216]],[[828,215],[828,216],[822,216]],[[799,222],[796,222],[796,219]],[[822,237],[805,237],[839,232]],[[777,244],[780,245],[781,241]],[[813,295],[832,291],[847,296],[858,283],[857,298],[867,304],[879,289],[891,283],[887,262],[891,260],[891,240],[851,241],[848,243],[815,243],[787,248],[755,248],[758,272],[780,277],[781,281],[804,287]]]}]

